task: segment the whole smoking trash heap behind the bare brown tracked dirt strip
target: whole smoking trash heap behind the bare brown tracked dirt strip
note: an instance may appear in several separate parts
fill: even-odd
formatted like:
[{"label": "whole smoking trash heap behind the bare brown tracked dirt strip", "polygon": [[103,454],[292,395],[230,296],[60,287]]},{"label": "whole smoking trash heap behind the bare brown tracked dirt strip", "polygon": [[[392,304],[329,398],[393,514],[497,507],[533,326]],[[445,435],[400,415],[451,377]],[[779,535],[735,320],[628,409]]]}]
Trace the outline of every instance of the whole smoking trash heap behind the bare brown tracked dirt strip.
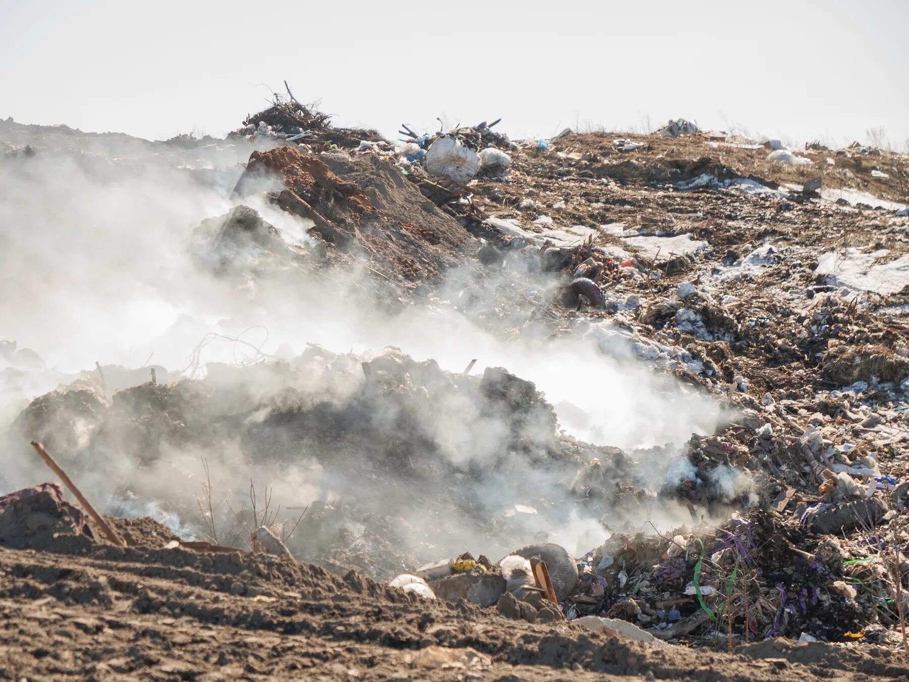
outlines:
[{"label": "whole smoking trash heap behind the bare brown tracked dirt strip", "polygon": [[[142,545],[282,580],[311,570],[418,608],[643,643],[904,646],[905,240],[840,253],[813,231],[874,213],[869,230],[896,234],[904,208],[850,203],[848,187],[834,199],[789,188],[829,150],[781,167],[762,145],[684,119],[634,140],[404,125],[393,145],[287,93],[234,135],[256,148],[232,176],[231,209],[188,236],[200,272],[254,298],[256,286],[355,272],[351,296],[384,313],[445,309],[515,344],[577,336],[709,396],[724,414],[715,433],[592,445],[506,367],[454,373],[398,348],[256,350],[204,371],[197,349],[193,372],[97,365],[33,396],[5,453],[55,456],[70,492],[87,486],[108,516],[35,480],[0,497],[0,546]],[[724,163],[707,155],[718,145]],[[29,149],[5,163],[45,154]],[[886,190],[887,175],[869,187]],[[289,236],[263,206],[305,233]],[[694,213],[706,216],[694,227],[679,217]],[[768,216],[777,227],[759,240],[753,224]],[[0,356],[7,377],[43,371],[11,342]],[[113,485],[100,498],[102,483]],[[123,518],[145,516],[165,525]],[[569,536],[584,525],[596,540],[581,547]]]}]

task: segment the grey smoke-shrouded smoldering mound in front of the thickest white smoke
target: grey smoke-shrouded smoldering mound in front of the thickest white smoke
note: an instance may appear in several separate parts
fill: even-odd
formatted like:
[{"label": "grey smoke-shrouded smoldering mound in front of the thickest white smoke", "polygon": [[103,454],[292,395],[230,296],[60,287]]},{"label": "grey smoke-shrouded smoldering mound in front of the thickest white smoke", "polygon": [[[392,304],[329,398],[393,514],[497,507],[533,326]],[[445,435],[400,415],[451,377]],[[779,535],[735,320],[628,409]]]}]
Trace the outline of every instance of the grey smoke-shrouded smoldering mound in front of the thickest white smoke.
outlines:
[{"label": "grey smoke-shrouded smoldering mound in front of the thickest white smoke", "polygon": [[[42,440],[106,511],[154,505],[222,541],[248,535],[239,527],[252,477],[306,509],[288,540],[295,553],[379,577],[478,538],[504,550],[573,515],[601,517],[627,495],[610,492],[613,482],[636,466],[558,433],[534,384],[500,367],[453,374],[396,349],[365,359],[310,346],[289,360],[212,363],[199,380],[156,376],[164,381],[108,399],[97,373],[85,374],[36,398],[5,449],[25,462],[27,442]],[[194,495],[204,493],[230,506],[200,517]],[[285,514],[293,523],[299,512]]]}]

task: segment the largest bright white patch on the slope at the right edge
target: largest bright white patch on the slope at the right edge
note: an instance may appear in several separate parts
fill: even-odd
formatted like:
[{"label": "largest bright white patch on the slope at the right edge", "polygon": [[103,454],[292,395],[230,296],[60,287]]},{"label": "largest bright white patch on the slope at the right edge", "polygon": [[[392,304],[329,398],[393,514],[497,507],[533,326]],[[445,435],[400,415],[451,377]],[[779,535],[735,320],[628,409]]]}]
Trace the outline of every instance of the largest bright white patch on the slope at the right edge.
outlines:
[{"label": "largest bright white patch on the slope at the right edge", "polygon": [[814,272],[828,276],[836,286],[889,296],[909,286],[909,255],[877,263],[889,253],[885,248],[870,254],[857,248],[847,248],[845,253],[828,251],[818,257]]}]

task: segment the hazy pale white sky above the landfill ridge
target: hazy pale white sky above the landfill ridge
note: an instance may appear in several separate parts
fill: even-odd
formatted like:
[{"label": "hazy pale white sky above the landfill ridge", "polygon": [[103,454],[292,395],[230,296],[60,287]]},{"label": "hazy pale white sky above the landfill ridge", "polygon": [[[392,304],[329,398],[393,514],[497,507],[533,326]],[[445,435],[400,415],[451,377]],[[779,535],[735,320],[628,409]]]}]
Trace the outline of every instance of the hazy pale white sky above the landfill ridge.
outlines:
[{"label": "hazy pale white sky above the landfill ridge", "polygon": [[435,116],[909,138],[909,0],[0,0],[0,117],[224,134],[287,79],[336,125]]}]

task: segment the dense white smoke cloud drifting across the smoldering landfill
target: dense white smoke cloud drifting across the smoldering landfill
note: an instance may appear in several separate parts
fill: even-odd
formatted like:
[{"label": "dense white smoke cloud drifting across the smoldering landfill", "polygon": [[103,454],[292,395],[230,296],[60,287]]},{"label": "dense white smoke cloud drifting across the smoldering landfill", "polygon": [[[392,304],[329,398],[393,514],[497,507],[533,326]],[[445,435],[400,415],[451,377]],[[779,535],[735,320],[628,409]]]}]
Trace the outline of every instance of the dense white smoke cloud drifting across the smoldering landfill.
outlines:
[{"label": "dense white smoke cloud drifting across the smoldering landfill", "polygon": [[[41,142],[35,144],[40,147]],[[87,153],[46,151],[0,161],[0,186],[5,187],[0,196],[0,289],[4,292],[0,337],[34,349],[46,363],[43,369],[33,366],[26,371],[17,366],[15,356],[3,360],[2,430],[29,399],[59,383],[68,384],[75,373],[93,368],[96,360],[103,365],[139,367],[151,358],[152,364],[172,372],[159,380],[175,380],[173,373],[180,371],[185,376],[204,376],[211,362],[293,358],[310,344],[335,353],[352,351],[361,359],[378,355],[385,346],[396,346],[415,360],[435,359],[451,372],[461,372],[477,358],[474,375],[482,374],[486,366],[504,366],[544,391],[546,400],[556,406],[561,428],[596,445],[634,451],[674,444],[668,452],[678,452],[692,433],[711,433],[722,419],[713,400],[655,376],[621,346],[610,356],[580,335],[504,340],[494,328],[474,324],[454,309],[458,292],[470,284],[462,271],[454,271],[437,288],[454,305],[444,301],[409,305],[394,313],[375,305],[356,272],[343,279],[337,274],[303,277],[299,272],[242,279],[213,276],[194,261],[191,244],[196,226],[206,218],[224,215],[237,203],[230,193],[242,171],[235,165],[242,150],[222,146],[220,151],[210,150],[201,164],[195,159],[208,173],[187,167],[193,163],[177,158],[175,150],[159,155],[145,150],[129,160],[112,160],[99,147]],[[311,246],[305,221],[261,199],[248,198],[245,203],[282,230],[289,243]],[[550,283],[541,280],[539,284],[543,290]],[[322,396],[341,405],[362,391],[366,381],[358,363],[350,358],[345,362],[349,366],[344,371],[335,366],[330,374],[305,366],[303,378],[298,375],[289,384],[267,372],[251,374],[238,380],[243,385],[239,393],[250,404],[255,400],[274,404],[289,386],[304,396]],[[129,384],[146,380],[143,372]],[[439,495],[461,486],[473,500],[468,511],[487,518],[501,517],[505,510],[528,500],[534,504],[544,500],[549,506],[538,514],[511,517],[508,531],[500,538],[502,546],[533,539],[542,530],[575,553],[604,540],[607,531],[599,513],[566,506],[573,496],[566,486],[577,465],[561,470],[559,465],[534,468],[519,456],[503,456],[508,424],[500,416],[484,414],[478,407],[482,404],[470,394],[440,393],[431,405],[433,410],[423,415],[421,428],[450,466],[467,470],[496,462],[494,470],[479,480],[454,476],[435,481]],[[236,406],[235,411],[242,409]],[[393,403],[388,403],[387,410],[370,418],[392,430],[401,415]],[[268,416],[264,409],[245,418],[265,424]],[[75,432],[84,432],[74,436],[74,446],[85,445],[96,425],[79,421],[75,414],[73,424]],[[533,431],[551,425],[541,421],[527,427]],[[6,456],[15,461],[4,466],[0,493],[47,477],[34,460],[26,458],[20,447],[24,444],[25,439],[7,451]],[[456,517],[440,534],[433,527],[436,517],[421,517],[408,502],[411,490],[394,476],[374,476],[370,485],[375,487],[365,491],[365,476],[370,475],[366,452],[344,466],[326,466],[315,461],[313,453],[290,462],[254,461],[236,439],[216,451],[168,445],[162,456],[141,466],[114,448],[93,447],[91,454],[93,461],[72,466],[99,506],[112,513],[164,517],[185,532],[199,529],[192,515],[197,511],[194,496],[205,490],[201,466],[205,460],[215,496],[226,496],[232,511],[245,504],[253,479],[274,486],[275,504],[280,501],[285,507],[320,500],[340,508],[357,504],[384,511],[396,519],[390,522],[395,537],[417,555],[450,554],[481,542],[476,527]],[[66,453],[59,455],[67,459]],[[676,458],[662,456],[673,462]],[[634,472],[639,485],[656,489],[666,472],[677,471],[673,462],[640,457],[647,466]],[[356,476],[348,468],[354,465],[359,467]],[[743,486],[734,479],[724,480],[723,485],[731,491]],[[678,511],[663,503],[616,508],[612,522],[643,523],[650,518],[671,526],[680,518],[690,520],[687,511],[681,517]],[[230,525],[226,506],[218,514],[225,526]],[[293,515],[288,512],[287,516]],[[494,527],[485,531],[494,535]],[[349,532],[356,536],[356,528]],[[435,547],[427,539],[443,535],[445,539]]]}]

